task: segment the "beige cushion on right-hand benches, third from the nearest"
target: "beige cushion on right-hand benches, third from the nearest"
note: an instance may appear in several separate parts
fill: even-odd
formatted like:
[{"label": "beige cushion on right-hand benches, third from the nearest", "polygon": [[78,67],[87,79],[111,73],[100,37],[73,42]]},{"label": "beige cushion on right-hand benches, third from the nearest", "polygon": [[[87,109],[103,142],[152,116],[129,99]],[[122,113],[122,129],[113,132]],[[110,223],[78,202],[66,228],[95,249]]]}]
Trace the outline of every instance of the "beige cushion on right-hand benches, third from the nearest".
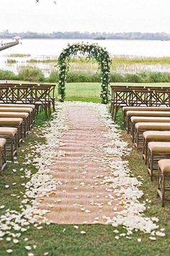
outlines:
[{"label": "beige cushion on right-hand benches, third from the nearest", "polygon": [[170,140],[170,131],[147,131],[143,132],[143,137],[147,140]]}]

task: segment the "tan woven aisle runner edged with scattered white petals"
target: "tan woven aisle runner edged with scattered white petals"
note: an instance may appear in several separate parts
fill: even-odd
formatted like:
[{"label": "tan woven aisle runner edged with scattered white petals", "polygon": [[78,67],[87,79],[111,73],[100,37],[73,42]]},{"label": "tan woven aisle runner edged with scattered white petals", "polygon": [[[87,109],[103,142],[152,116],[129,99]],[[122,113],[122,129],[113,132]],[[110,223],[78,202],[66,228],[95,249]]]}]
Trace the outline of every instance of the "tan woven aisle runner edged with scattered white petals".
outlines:
[{"label": "tan woven aisle runner edged with scattered white petals", "polygon": [[122,209],[112,188],[104,183],[109,174],[109,161],[118,157],[104,153],[108,128],[102,124],[97,110],[89,105],[66,106],[69,129],[55,148],[60,157],[50,167],[50,174],[61,182],[53,195],[41,202],[50,210],[47,217],[54,223],[105,223]]}]

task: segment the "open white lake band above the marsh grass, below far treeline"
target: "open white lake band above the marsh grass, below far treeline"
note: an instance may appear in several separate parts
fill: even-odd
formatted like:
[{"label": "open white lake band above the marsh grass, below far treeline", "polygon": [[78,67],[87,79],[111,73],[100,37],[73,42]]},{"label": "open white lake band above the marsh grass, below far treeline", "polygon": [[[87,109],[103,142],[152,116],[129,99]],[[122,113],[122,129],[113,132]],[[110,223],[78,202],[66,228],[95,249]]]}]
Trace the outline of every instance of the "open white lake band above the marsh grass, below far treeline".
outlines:
[{"label": "open white lake band above the marsh grass, below far treeline", "polygon": [[[7,40],[3,40],[7,41]],[[9,40],[8,40],[9,41]],[[170,41],[161,40],[84,40],[106,47],[111,56],[170,56]],[[5,54],[31,54],[32,56],[58,56],[68,43],[82,40],[71,39],[24,39],[22,44],[0,52]]]}]

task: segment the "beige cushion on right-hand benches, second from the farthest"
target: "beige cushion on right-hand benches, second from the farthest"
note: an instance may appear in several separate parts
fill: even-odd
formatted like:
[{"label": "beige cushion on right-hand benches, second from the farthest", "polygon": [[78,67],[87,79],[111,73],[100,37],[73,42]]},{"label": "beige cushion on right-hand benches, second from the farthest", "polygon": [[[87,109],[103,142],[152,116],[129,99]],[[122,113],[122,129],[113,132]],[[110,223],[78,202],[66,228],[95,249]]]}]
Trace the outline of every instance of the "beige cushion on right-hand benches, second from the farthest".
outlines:
[{"label": "beige cushion on right-hand benches, second from the farthest", "polygon": [[170,111],[128,111],[127,116],[169,116]]}]

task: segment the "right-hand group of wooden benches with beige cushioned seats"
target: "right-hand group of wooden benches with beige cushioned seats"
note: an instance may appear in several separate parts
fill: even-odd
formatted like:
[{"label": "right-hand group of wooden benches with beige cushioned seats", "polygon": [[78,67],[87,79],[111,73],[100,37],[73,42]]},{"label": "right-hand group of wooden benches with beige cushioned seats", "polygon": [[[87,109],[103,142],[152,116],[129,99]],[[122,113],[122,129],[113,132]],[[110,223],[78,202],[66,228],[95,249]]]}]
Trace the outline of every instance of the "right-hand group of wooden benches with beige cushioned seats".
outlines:
[{"label": "right-hand group of wooden benches with beige cushioned seats", "polygon": [[151,181],[158,177],[158,195],[164,206],[170,200],[170,107],[122,108],[123,124],[135,147],[141,150]]}]

